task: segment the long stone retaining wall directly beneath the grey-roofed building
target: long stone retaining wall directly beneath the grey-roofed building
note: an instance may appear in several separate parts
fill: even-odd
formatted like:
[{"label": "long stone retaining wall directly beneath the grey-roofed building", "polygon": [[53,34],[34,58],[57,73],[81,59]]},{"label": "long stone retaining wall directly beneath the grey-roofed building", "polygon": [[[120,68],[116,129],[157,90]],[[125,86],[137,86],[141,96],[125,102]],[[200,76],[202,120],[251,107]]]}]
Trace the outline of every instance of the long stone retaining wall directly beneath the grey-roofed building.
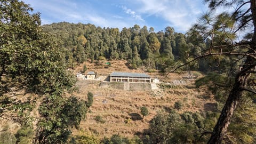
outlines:
[{"label": "long stone retaining wall directly beneath the grey-roofed building", "polygon": [[120,90],[132,91],[151,91],[150,83],[118,83],[118,82],[101,82],[100,87],[111,87]]}]

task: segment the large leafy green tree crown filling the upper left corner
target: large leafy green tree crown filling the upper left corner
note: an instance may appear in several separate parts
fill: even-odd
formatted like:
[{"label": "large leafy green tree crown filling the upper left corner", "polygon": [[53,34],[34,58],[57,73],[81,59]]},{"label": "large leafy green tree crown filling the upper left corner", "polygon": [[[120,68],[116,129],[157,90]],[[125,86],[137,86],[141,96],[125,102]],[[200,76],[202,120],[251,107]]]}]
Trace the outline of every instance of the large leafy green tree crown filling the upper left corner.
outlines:
[{"label": "large leafy green tree crown filling the upper left corner", "polygon": [[36,93],[70,87],[74,82],[65,71],[63,52],[54,38],[42,32],[39,13],[30,14],[33,9],[23,2],[1,1],[1,5],[0,96],[14,86],[16,91],[25,88]]}]

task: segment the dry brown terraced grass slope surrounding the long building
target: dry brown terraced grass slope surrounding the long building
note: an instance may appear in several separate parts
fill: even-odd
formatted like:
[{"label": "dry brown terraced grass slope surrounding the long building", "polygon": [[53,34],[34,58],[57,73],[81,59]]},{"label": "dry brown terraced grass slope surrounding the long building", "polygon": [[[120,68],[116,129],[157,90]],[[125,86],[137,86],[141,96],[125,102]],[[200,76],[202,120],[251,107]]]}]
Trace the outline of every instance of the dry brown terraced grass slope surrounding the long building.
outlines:
[{"label": "dry brown terraced grass slope surrounding the long building", "polygon": [[[125,71],[133,73],[145,73],[146,69],[129,69],[125,65],[126,61],[110,61],[111,67],[105,68],[103,62],[100,65],[95,63],[86,63],[87,71],[95,71],[97,76],[107,76],[112,71]],[[78,67],[75,72],[82,70],[83,65]],[[87,72],[86,71],[86,72]],[[85,73],[86,73],[85,72]],[[152,77],[159,77],[165,82],[171,82],[174,79],[182,79],[183,74],[169,74],[168,76],[157,73],[148,73]],[[94,94],[93,105],[85,121],[81,122],[81,131],[90,131],[100,138],[110,137],[113,134],[133,137],[135,133],[140,133],[148,129],[148,122],[157,113],[168,113],[174,108],[174,102],[180,100],[183,103],[182,111],[201,111],[212,110],[215,106],[213,95],[199,91],[194,86],[194,80],[183,79],[186,85],[178,86],[160,86],[154,91],[124,91],[118,89],[101,88],[99,81],[78,81],[79,92],[77,97],[87,100],[87,92]],[[207,91],[206,91],[207,92]],[[140,114],[140,107],[146,106],[149,115],[143,120]],[[96,116],[101,116],[105,123],[99,123],[94,120]],[[141,117],[140,117],[141,116]],[[130,123],[125,123],[126,119],[133,119]],[[79,131],[74,130],[74,134]]]}]

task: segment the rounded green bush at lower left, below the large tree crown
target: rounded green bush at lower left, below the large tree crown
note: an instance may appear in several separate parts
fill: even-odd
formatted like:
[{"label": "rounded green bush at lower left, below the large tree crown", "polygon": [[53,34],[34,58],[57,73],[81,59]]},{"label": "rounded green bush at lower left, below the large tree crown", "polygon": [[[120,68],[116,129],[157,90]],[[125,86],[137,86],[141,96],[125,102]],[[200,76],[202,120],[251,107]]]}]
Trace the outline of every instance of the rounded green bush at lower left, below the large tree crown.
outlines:
[{"label": "rounded green bush at lower left, below the large tree crown", "polygon": [[78,128],[85,118],[87,107],[85,101],[76,97],[64,99],[51,95],[39,107],[39,113],[43,117],[37,129],[39,143],[61,143],[68,140],[71,127]]}]

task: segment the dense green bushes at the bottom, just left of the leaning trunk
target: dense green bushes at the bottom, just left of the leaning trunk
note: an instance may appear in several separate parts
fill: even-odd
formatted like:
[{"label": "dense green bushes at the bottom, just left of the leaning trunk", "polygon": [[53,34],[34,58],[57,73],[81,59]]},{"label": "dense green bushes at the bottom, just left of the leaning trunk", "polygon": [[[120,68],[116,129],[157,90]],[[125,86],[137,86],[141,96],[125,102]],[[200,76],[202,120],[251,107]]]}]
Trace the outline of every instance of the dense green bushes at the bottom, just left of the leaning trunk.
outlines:
[{"label": "dense green bushes at the bottom, just left of the leaning trunk", "polygon": [[213,129],[218,116],[212,112],[179,115],[174,110],[170,114],[157,114],[151,119],[142,140],[144,143],[205,143],[210,135],[204,132]]}]

